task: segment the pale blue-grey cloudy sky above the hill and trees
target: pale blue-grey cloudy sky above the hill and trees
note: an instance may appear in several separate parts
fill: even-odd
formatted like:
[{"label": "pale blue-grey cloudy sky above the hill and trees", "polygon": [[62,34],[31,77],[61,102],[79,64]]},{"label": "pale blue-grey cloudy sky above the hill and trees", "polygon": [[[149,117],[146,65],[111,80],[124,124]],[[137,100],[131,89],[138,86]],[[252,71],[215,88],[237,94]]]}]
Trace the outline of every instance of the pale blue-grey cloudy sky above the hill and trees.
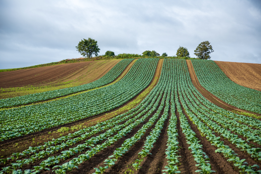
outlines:
[{"label": "pale blue-grey cloudy sky above the hill and trees", "polygon": [[82,57],[81,39],[111,50],[190,57],[208,40],[211,60],[261,63],[261,1],[0,0],[0,69]]}]

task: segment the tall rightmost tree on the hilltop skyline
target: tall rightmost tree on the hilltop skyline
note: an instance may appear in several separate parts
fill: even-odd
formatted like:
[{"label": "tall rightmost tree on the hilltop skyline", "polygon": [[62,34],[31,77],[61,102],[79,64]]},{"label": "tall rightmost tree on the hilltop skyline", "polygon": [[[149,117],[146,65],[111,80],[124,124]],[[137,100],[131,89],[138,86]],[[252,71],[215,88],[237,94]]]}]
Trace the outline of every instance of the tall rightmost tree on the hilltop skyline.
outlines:
[{"label": "tall rightmost tree on the hilltop skyline", "polygon": [[210,53],[214,52],[212,49],[212,46],[210,45],[209,41],[204,41],[201,42],[196,50],[194,50],[194,54],[200,58],[200,59],[210,59],[211,57],[209,56]]}]

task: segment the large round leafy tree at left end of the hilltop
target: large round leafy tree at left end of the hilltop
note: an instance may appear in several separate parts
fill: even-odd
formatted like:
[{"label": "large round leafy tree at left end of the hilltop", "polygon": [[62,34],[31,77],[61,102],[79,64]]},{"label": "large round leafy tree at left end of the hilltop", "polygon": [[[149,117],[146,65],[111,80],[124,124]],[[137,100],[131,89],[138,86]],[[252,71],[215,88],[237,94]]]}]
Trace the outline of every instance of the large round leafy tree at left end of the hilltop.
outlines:
[{"label": "large round leafy tree at left end of the hilltop", "polygon": [[88,58],[91,58],[93,54],[98,56],[98,52],[100,52],[97,41],[91,38],[81,40],[76,49],[82,56]]}]

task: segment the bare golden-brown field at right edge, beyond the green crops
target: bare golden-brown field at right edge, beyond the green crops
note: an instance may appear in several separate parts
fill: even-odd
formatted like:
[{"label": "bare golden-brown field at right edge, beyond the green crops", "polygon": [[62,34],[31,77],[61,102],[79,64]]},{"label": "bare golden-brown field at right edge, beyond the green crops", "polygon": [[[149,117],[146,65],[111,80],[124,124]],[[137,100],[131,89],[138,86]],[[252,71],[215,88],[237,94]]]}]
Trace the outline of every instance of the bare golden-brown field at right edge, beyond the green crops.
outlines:
[{"label": "bare golden-brown field at right edge, beyond the green crops", "polygon": [[261,91],[261,64],[214,61],[233,82]]}]

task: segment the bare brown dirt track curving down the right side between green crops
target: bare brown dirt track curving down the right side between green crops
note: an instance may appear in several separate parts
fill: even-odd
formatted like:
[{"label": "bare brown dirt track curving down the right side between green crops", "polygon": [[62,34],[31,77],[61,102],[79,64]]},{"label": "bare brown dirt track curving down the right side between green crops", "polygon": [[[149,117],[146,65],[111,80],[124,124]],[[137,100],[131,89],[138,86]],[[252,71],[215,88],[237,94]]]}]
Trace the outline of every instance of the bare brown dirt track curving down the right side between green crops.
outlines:
[{"label": "bare brown dirt track curving down the right side between green crops", "polygon": [[186,60],[186,63],[187,63],[187,66],[188,66],[189,76],[191,78],[191,81],[192,81],[193,85],[211,103],[217,105],[218,107],[221,107],[223,109],[226,109],[226,110],[229,110],[229,111],[232,111],[232,112],[235,112],[235,113],[240,111],[240,112],[247,112],[247,113],[255,114],[257,116],[261,116],[261,114],[250,112],[250,111],[246,111],[246,110],[242,110],[242,109],[239,109],[239,108],[237,108],[235,106],[229,105],[229,104],[225,103],[224,101],[220,100],[219,98],[217,98],[215,95],[211,94],[203,86],[200,85],[191,61],[190,60]]}]

